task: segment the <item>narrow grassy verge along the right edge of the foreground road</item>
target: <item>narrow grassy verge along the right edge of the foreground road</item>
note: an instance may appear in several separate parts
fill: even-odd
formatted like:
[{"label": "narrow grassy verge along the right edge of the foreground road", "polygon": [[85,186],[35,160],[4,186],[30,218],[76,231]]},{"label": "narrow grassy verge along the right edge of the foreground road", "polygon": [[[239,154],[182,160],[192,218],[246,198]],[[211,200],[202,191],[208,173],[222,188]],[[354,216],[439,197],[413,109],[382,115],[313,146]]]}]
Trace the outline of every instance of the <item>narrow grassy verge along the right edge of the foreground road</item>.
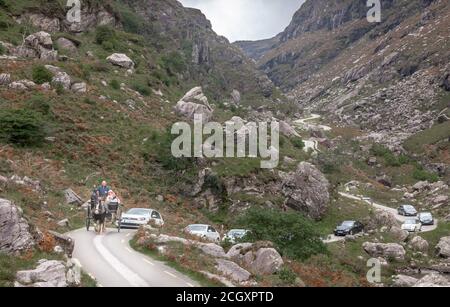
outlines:
[{"label": "narrow grassy verge along the right edge of the foreground road", "polygon": [[164,255],[159,254],[157,251],[153,251],[148,248],[137,246],[135,239],[133,239],[130,242],[130,246],[133,249],[135,249],[136,251],[138,251],[144,255],[147,255],[157,261],[164,262],[166,265],[170,266],[171,268],[188,276],[192,280],[197,281],[202,287],[222,287],[223,286],[222,283],[210,280],[202,273],[188,269],[188,268],[182,266],[181,264],[179,264],[178,262],[176,262],[172,259],[169,259],[169,258],[165,257]]}]

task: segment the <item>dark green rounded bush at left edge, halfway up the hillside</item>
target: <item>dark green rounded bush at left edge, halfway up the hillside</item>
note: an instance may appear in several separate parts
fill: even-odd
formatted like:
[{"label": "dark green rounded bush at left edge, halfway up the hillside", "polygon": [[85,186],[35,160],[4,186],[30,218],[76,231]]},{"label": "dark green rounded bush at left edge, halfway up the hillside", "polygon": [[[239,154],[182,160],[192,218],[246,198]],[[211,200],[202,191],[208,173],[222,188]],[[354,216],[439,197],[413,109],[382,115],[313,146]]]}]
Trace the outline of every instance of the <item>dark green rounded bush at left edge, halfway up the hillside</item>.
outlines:
[{"label": "dark green rounded bush at left edge, halfway up the hillside", "polygon": [[45,138],[41,115],[35,111],[1,110],[0,141],[19,146],[40,145]]}]

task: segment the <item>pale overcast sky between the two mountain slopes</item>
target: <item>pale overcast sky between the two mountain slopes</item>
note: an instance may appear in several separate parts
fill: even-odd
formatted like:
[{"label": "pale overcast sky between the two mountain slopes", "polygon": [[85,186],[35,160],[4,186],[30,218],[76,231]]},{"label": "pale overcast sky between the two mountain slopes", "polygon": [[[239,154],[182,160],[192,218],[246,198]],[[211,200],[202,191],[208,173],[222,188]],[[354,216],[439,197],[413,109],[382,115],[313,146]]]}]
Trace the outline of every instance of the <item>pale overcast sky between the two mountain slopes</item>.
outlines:
[{"label": "pale overcast sky between the two mountain slopes", "polygon": [[178,0],[211,20],[230,41],[270,38],[283,31],[305,0]]}]

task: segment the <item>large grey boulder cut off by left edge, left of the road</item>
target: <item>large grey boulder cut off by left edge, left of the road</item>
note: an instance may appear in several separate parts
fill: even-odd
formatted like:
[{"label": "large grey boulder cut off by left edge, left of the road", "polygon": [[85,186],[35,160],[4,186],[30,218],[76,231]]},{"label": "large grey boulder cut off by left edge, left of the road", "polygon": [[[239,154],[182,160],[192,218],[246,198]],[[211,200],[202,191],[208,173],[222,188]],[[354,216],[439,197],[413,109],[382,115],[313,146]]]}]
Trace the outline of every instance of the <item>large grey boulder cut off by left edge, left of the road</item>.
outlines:
[{"label": "large grey boulder cut off by left edge, left of the road", "polygon": [[22,211],[12,202],[0,198],[0,251],[18,254],[35,245],[30,226]]}]

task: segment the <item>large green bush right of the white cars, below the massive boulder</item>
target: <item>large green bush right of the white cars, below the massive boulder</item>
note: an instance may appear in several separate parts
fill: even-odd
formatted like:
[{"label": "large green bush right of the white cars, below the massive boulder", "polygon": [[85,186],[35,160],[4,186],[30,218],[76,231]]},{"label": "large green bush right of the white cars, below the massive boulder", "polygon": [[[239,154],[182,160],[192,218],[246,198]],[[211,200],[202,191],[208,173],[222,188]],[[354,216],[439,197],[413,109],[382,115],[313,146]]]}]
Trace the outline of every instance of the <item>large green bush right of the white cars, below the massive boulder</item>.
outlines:
[{"label": "large green bush right of the white cars, below the massive boulder", "polygon": [[251,231],[250,241],[271,241],[282,255],[293,259],[327,252],[312,221],[298,212],[254,207],[237,219],[236,226]]}]

